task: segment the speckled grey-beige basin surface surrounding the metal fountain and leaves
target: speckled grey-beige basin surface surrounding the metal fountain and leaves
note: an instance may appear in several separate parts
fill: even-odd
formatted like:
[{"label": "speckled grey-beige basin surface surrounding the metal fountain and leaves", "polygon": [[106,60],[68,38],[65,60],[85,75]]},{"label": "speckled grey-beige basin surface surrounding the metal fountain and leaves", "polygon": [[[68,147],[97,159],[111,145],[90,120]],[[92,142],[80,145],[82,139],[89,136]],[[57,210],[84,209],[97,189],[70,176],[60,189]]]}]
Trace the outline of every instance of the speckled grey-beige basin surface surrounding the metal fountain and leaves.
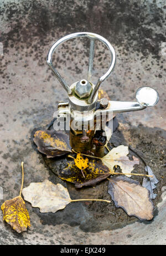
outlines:
[{"label": "speckled grey-beige basin surface surrounding the metal fountain and leaves", "polygon": [[[51,214],[41,217],[38,209],[27,203],[32,227],[17,234],[3,222],[1,212],[0,244],[165,244],[166,57],[161,54],[161,45],[166,42],[164,18],[164,1],[1,2],[0,41],[4,55],[0,57],[0,186],[4,200],[19,193],[21,161],[25,162],[24,187],[45,178],[58,181],[30,141],[32,130],[48,124],[58,101],[66,99],[65,91],[46,65],[46,55],[55,40],[79,31],[103,35],[117,53],[116,68],[102,84],[110,98],[134,100],[136,90],[148,85],[158,90],[160,101],[155,107],[117,116],[121,125],[115,139],[112,137],[114,143],[130,144],[142,153],[157,175],[154,221],[135,222],[136,218],[127,217],[122,209],[113,208],[113,203],[111,208],[97,202],[69,204],[54,218]],[[87,55],[85,40],[75,40],[59,48],[54,63],[69,84],[85,78]],[[97,44],[94,82],[106,71],[108,63],[110,56]],[[100,197],[100,191],[105,194],[105,183],[98,185],[99,189],[88,188],[89,196]],[[69,183],[66,186],[76,198],[73,186]],[[80,196],[84,196],[84,191],[80,191]],[[112,213],[120,226],[113,227]]]}]

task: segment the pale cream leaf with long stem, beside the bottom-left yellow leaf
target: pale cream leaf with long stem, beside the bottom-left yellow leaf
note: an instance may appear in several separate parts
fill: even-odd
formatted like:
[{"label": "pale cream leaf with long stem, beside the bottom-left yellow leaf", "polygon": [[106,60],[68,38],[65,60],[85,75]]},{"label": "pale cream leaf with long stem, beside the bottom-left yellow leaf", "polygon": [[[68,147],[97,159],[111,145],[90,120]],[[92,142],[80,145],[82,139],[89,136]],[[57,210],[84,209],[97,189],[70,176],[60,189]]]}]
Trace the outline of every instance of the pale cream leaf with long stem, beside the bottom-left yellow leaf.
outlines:
[{"label": "pale cream leaf with long stem, beside the bottom-left yellow leaf", "polygon": [[29,187],[23,189],[24,199],[32,204],[33,207],[39,207],[40,212],[57,212],[64,209],[70,202],[77,201],[104,201],[104,199],[74,199],[70,198],[67,188],[60,183],[53,184],[45,180],[38,183],[30,183]]}]

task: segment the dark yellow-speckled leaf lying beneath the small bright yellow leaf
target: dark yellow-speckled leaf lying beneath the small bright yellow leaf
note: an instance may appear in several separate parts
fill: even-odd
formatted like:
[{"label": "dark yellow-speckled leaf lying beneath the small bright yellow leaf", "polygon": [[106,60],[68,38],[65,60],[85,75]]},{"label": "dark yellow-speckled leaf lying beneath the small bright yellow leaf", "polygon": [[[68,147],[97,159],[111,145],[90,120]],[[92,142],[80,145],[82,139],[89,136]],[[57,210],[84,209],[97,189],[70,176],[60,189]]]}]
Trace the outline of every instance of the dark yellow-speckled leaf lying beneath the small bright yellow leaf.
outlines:
[{"label": "dark yellow-speckled leaf lying beneath the small bright yellow leaf", "polygon": [[75,187],[95,186],[96,183],[105,180],[110,176],[110,170],[103,165],[101,161],[89,160],[89,166],[84,170],[82,175],[73,161],[68,162],[68,166],[56,173],[62,180],[66,180],[75,184]]}]

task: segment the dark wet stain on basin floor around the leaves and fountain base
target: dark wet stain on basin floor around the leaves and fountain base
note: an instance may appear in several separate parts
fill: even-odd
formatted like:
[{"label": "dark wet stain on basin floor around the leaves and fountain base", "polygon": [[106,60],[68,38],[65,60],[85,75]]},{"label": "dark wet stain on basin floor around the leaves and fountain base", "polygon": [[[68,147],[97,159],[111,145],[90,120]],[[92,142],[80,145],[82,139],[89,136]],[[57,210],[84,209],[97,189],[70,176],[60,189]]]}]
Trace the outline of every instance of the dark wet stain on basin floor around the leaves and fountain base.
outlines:
[{"label": "dark wet stain on basin floor around the leaves and fountain base", "polygon": [[[129,145],[135,149],[144,161],[152,167],[154,174],[157,176],[159,183],[155,193],[157,193],[156,199],[153,201],[154,206],[160,201],[161,188],[166,182],[166,178],[161,176],[163,172],[162,161],[163,158],[163,146],[166,138],[166,132],[158,128],[148,128],[139,125],[138,127],[128,126],[128,130],[123,130],[125,120],[120,115],[121,124],[120,127],[113,133],[110,141],[110,149],[112,146]],[[127,139],[126,133],[129,132]],[[34,133],[34,131],[33,131]],[[129,143],[129,141],[132,142]],[[156,140],[157,138],[157,140]],[[133,155],[133,152],[130,152]],[[42,155],[44,165],[49,168],[49,180],[53,183],[61,183],[67,187],[72,199],[78,198],[101,198],[110,199],[107,193],[107,181],[98,183],[95,187],[85,187],[76,189],[74,185],[69,182],[62,181],[58,176],[54,175],[58,170],[62,170],[66,167],[68,158],[61,156],[55,159],[47,159]],[[133,173],[145,173],[143,162],[139,166],[135,166]],[[140,176],[132,177],[142,183],[143,178]],[[69,226],[79,226],[85,232],[98,232],[102,230],[117,229],[131,224],[133,222],[141,222],[136,217],[129,217],[121,208],[116,208],[113,201],[110,204],[103,202],[77,202],[70,203],[64,210],[56,213],[40,213],[39,209],[33,208],[33,211],[40,217],[42,224],[49,224],[55,226],[56,224],[68,224]],[[158,210],[154,209],[154,218],[157,216]],[[144,224],[152,223],[152,221],[144,221]]]}]

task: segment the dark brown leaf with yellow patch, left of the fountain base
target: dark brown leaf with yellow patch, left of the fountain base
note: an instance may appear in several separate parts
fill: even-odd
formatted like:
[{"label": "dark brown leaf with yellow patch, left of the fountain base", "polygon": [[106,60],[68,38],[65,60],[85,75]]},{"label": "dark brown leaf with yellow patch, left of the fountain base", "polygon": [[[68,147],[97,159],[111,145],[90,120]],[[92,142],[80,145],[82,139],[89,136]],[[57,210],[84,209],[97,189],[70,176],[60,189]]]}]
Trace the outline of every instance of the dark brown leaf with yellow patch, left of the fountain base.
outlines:
[{"label": "dark brown leaf with yellow patch, left of the fountain base", "polygon": [[69,136],[55,130],[39,130],[34,134],[34,142],[41,153],[47,158],[62,156],[71,152]]}]

